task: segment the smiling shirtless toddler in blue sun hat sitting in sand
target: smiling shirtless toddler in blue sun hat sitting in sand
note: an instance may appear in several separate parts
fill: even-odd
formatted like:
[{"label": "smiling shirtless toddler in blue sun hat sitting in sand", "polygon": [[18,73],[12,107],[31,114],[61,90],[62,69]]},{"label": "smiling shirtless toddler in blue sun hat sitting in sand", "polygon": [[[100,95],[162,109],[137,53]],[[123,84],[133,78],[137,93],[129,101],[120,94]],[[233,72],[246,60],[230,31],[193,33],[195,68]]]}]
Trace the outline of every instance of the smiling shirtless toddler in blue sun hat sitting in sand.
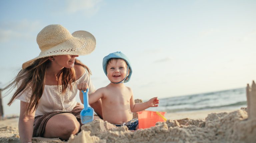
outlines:
[{"label": "smiling shirtless toddler in blue sun hat sitting in sand", "polygon": [[158,107],[159,100],[154,97],[145,103],[134,103],[132,89],[124,85],[131,78],[132,68],[129,59],[122,52],[105,56],[103,70],[110,84],[89,95],[89,104],[101,99],[104,121],[136,130],[138,119],[132,119],[132,113],[149,107]]}]

